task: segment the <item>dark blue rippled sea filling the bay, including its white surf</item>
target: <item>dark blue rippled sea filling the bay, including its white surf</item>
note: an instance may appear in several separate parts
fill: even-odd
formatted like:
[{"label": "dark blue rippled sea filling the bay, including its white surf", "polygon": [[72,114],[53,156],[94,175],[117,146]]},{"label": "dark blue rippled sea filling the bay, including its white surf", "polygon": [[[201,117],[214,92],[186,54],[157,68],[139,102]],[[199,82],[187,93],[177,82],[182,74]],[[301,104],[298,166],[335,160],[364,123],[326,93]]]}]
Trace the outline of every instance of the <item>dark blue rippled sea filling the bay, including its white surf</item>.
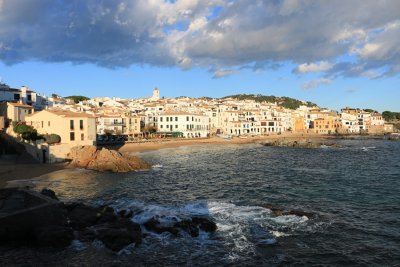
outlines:
[{"label": "dark blue rippled sea filling the bay, including its white surf", "polygon": [[118,253],[75,240],[60,252],[3,250],[0,265],[400,266],[400,142],[335,142],[342,147],[184,146],[139,154],[149,171],[25,181],[66,202],[130,209],[141,225],[206,215],[218,229],[193,238],[142,227],[143,243]]}]

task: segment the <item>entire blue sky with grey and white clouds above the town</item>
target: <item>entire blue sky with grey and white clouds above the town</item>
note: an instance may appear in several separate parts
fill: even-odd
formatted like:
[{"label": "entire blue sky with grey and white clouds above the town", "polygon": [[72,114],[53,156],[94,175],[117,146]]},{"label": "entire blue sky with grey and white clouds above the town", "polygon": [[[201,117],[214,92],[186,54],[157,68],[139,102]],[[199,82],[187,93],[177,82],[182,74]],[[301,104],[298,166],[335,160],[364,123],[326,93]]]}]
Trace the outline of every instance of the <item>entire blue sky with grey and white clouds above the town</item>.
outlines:
[{"label": "entire blue sky with grey and white clouds above the town", "polygon": [[400,1],[0,0],[0,77],[45,95],[400,111]]}]

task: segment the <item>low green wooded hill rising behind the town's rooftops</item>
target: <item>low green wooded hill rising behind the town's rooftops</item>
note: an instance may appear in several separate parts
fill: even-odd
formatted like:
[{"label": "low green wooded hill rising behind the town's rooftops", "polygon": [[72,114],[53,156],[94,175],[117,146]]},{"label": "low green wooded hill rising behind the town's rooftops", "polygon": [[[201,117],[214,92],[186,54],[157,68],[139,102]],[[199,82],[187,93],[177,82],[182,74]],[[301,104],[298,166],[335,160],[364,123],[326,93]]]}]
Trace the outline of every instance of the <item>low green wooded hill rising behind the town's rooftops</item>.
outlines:
[{"label": "low green wooded hill rising behind the town's rooftops", "polygon": [[248,94],[239,94],[239,95],[230,95],[222,97],[222,99],[226,98],[236,98],[238,100],[255,100],[256,102],[269,102],[269,103],[277,103],[278,106],[288,108],[288,109],[297,109],[301,105],[305,105],[307,107],[317,107],[317,104],[314,104],[310,101],[304,102],[291,97],[286,96],[265,96],[265,95],[248,95]]}]

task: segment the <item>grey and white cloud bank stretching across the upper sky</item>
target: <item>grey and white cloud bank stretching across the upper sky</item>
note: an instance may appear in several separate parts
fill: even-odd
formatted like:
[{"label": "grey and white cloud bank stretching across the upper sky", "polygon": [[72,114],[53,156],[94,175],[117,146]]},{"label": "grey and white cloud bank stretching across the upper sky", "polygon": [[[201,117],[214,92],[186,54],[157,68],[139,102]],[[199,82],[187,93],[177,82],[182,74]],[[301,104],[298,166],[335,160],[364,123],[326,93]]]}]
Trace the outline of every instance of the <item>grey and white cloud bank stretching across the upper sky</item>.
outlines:
[{"label": "grey and white cloud bank stretching across the upper sky", "polygon": [[0,60],[385,77],[399,17],[400,1],[0,0]]}]

